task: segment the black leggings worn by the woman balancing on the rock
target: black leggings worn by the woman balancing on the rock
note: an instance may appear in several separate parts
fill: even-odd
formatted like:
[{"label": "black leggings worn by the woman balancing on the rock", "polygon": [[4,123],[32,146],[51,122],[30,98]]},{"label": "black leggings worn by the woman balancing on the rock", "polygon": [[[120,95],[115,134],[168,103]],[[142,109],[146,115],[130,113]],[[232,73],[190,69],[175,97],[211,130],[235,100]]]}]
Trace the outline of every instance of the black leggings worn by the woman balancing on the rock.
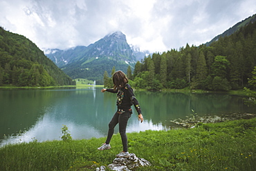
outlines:
[{"label": "black leggings worn by the woman balancing on the rock", "polygon": [[123,148],[124,152],[128,151],[126,126],[127,126],[127,122],[128,122],[130,117],[131,117],[131,112],[130,111],[122,113],[122,114],[118,114],[118,112],[116,112],[113,115],[113,118],[111,119],[111,121],[109,122],[109,132],[107,134],[106,143],[110,143],[110,140],[111,140],[112,135],[113,135],[114,128],[116,127],[116,124],[119,123],[119,132],[120,132],[120,135],[121,135],[122,148]]}]

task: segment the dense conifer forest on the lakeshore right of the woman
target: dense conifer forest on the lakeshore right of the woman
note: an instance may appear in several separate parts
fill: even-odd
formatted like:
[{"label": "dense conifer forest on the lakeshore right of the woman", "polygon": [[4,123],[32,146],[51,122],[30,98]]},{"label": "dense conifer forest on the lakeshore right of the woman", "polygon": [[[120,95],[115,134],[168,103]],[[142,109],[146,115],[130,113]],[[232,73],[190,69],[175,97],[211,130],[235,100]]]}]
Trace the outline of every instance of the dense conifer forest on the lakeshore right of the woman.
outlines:
[{"label": "dense conifer forest on the lakeshore right of the woman", "polygon": [[[183,89],[238,90],[248,84],[256,66],[256,22],[248,23],[210,46],[189,46],[156,52],[135,65],[129,83],[147,90]],[[113,72],[113,71],[112,71]],[[104,73],[104,86],[111,82]]]}]

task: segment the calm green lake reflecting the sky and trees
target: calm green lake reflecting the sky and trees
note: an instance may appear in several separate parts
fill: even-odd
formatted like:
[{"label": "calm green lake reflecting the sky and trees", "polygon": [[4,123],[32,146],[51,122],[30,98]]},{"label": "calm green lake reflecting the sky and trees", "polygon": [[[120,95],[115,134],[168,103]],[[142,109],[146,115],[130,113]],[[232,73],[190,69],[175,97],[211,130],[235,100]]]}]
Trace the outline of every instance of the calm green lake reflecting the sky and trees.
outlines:
[{"label": "calm green lake reflecting the sky and trees", "polygon": [[[48,141],[62,137],[63,125],[73,139],[106,137],[108,123],[116,112],[116,94],[101,88],[0,89],[0,141],[6,143]],[[168,130],[173,119],[230,112],[255,113],[243,97],[225,93],[135,91],[145,121],[134,113],[127,132]],[[118,125],[116,127],[118,133]]]}]

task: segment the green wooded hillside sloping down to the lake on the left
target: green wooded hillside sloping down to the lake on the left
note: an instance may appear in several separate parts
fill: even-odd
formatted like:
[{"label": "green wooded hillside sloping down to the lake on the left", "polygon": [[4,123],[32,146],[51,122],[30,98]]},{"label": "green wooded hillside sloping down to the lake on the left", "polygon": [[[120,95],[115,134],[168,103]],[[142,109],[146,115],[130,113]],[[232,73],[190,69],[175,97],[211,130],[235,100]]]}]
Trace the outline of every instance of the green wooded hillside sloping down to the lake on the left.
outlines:
[{"label": "green wooded hillside sloping down to the lake on the left", "polygon": [[64,86],[72,81],[35,43],[0,28],[0,85]]}]

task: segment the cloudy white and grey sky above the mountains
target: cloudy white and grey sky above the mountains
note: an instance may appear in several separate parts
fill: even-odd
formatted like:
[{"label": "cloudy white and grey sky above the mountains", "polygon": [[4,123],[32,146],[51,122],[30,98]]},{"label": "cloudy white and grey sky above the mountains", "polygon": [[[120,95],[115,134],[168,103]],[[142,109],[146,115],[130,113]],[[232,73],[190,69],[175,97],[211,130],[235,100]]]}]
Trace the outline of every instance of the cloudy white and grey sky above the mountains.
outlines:
[{"label": "cloudy white and grey sky above the mountains", "polygon": [[121,31],[140,50],[163,52],[199,46],[255,13],[255,0],[1,0],[0,26],[42,50]]}]

